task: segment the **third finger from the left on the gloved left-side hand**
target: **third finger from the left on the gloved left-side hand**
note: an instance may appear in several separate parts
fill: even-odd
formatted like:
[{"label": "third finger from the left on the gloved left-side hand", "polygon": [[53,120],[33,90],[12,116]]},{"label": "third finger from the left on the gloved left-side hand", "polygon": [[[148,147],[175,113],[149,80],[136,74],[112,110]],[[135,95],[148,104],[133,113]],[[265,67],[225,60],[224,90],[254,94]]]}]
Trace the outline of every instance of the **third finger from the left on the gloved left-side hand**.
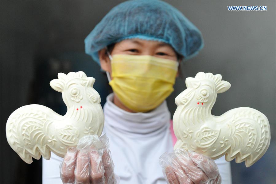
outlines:
[{"label": "third finger from the left on the gloved left-side hand", "polygon": [[90,151],[89,156],[91,166],[90,177],[92,183],[105,183],[102,156],[95,150]]}]

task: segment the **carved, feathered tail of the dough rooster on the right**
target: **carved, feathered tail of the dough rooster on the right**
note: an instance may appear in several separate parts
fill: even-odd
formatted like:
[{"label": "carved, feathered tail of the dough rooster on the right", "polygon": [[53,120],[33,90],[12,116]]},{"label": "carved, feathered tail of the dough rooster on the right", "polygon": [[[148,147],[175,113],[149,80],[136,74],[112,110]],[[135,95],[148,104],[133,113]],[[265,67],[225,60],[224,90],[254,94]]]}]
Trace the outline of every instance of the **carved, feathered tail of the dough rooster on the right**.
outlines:
[{"label": "carved, feathered tail of the dough rooster on the right", "polygon": [[[257,162],[270,144],[270,125],[267,117],[256,109],[241,107],[232,123],[235,130],[232,134],[231,151],[225,155],[236,163],[245,161],[246,167]],[[242,146],[241,146],[242,145]]]}]

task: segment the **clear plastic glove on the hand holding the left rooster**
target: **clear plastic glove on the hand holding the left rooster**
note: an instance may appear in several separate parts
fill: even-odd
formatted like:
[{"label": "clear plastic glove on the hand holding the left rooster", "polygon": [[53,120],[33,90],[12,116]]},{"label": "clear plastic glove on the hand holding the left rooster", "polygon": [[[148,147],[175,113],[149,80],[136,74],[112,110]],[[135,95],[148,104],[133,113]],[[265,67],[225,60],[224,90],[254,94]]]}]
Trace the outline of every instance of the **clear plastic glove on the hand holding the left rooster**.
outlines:
[{"label": "clear plastic glove on the hand holding the left rooster", "polygon": [[76,148],[68,148],[60,163],[60,178],[64,184],[116,183],[107,136],[84,136]]}]

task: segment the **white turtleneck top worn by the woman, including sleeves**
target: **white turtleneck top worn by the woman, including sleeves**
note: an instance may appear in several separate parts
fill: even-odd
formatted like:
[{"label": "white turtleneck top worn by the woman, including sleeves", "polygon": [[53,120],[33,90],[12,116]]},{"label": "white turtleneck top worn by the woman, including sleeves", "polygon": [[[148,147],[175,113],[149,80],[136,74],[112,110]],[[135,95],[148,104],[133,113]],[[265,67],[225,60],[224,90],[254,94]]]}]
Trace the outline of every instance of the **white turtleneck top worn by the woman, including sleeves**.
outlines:
[{"label": "white turtleneck top worn by the woman, including sleeves", "polygon": [[[159,166],[159,157],[173,152],[170,131],[170,112],[166,101],[148,113],[130,113],[107,96],[103,106],[103,134],[109,138],[110,151],[119,183],[166,183]],[[43,158],[42,183],[62,183],[59,165],[63,158],[52,153],[51,159]],[[230,162],[224,157],[215,160],[222,183],[231,183]]]}]

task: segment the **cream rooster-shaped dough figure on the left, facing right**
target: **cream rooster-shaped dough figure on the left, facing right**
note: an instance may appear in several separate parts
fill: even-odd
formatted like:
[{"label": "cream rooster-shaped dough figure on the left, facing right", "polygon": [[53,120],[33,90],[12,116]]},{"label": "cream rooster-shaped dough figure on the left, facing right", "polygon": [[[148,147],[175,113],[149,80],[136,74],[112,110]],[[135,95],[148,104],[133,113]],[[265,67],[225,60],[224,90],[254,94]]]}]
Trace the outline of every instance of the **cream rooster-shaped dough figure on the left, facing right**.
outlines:
[{"label": "cream rooster-shaped dough figure on the left, facing right", "polygon": [[64,157],[67,147],[76,147],[84,135],[103,131],[101,98],[93,88],[95,79],[83,71],[58,73],[50,86],[62,93],[67,106],[64,116],[43,105],[25,105],[8,118],[6,136],[11,148],[26,163],[41,155],[49,160],[51,152]]}]

